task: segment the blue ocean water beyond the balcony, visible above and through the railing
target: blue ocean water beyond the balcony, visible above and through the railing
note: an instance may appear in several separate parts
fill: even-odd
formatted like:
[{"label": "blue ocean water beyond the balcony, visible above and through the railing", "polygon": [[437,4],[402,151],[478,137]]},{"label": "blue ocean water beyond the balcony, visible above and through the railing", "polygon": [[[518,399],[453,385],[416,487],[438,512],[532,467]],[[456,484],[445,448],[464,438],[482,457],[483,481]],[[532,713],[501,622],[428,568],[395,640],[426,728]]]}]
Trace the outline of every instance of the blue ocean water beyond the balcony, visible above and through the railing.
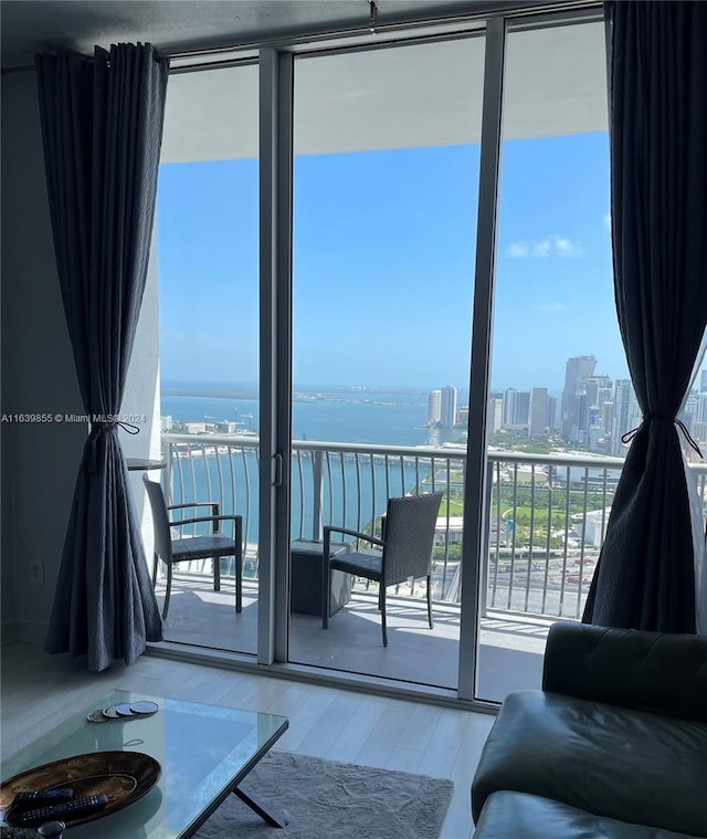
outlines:
[{"label": "blue ocean water beyond the balcony, visible above and through the railing", "polygon": [[[177,422],[229,420],[257,431],[260,402],[254,396],[254,389],[247,386],[207,389],[203,385],[197,388],[189,382],[165,382],[160,412]],[[426,390],[300,388],[295,391],[292,406],[293,438],[381,445],[436,445],[460,439],[460,430],[425,428],[428,396]],[[228,461],[225,455],[220,455],[221,462],[215,455],[191,461],[178,459],[176,463],[172,502],[220,497],[222,512],[243,516],[246,542],[255,544],[258,526],[255,454],[233,457],[228,463],[224,463]],[[292,466],[291,534],[293,538],[307,537],[312,527],[312,460],[296,462],[293,459]],[[368,472],[366,480],[360,480],[357,469],[351,460],[345,460],[342,464],[334,460],[330,470],[325,472],[325,523],[341,523],[352,528],[366,526],[382,515],[388,494],[403,495],[415,489],[418,479],[423,481],[426,478],[426,472],[416,472],[412,463],[390,470],[388,480],[383,463],[374,466],[374,480]]]}]

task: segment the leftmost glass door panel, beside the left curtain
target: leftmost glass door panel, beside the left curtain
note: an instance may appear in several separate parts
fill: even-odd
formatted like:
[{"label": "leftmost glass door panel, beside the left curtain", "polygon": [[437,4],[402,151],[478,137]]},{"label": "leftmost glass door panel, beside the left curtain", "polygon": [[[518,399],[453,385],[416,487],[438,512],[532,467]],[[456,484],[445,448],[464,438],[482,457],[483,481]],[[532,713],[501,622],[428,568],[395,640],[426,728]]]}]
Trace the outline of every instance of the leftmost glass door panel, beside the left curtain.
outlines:
[{"label": "leftmost glass door panel, beside the left curtain", "polygon": [[[218,591],[219,560],[176,567],[165,638],[252,653],[258,576],[257,84],[255,64],[170,76],[156,224],[167,503],[211,502],[222,515],[241,516],[244,552],[238,613],[233,557],[220,560]],[[188,506],[172,511],[172,518],[211,512]],[[229,536],[233,527],[233,521],[220,523]],[[196,523],[172,535],[208,532],[208,524]]]}]

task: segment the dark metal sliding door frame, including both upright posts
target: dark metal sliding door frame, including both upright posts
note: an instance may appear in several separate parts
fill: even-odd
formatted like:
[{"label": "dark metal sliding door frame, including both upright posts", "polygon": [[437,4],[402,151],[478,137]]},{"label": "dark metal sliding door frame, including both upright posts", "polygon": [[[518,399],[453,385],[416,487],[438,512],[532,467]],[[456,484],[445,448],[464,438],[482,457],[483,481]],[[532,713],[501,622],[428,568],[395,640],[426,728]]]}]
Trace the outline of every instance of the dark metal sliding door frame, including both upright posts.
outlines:
[{"label": "dark metal sliding door frame, including both upright posts", "polygon": [[[467,29],[461,23],[449,38],[476,34],[485,38],[481,161],[476,220],[474,302],[469,405],[484,410],[469,411],[467,427],[467,468],[464,483],[464,533],[462,549],[462,598],[460,613],[458,671],[455,699],[479,711],[497,703],[476,699],[478,620],[484,604],[487,554],[487,452],[486,403],[489,386],[492,323],[496,261],[496,217],[500,167],[503,83],[508,31],[603,20],[602,7],[588,2],[584,8],[542,14],[528,9],[514,13],[489,14],[485,30]],[[410,41],[415,39],[411,30]],[[366,44],[360,49],[384,49],[389,44]],[[260,470],[260,664],[286,668],[289,672],[312,674],[313,668],[288,663],[288,578],[289,578],[289,481],[292,451],[292,243],[293,243],[293,67],[296,52],[316,51],[316,44],[263,48],[260,51],[260,273],[261,273],[261,470]],[[341,677],[317,669],[316,679],[336,685]],[[350,678],[344,678],[350,682]],[[374,678],[360,680],[379,682]],[[401,696],[409,689],[390,692]],[[429,690],[425,691],[429,694]],[[450,691],[440,689],[441,696]]]}]

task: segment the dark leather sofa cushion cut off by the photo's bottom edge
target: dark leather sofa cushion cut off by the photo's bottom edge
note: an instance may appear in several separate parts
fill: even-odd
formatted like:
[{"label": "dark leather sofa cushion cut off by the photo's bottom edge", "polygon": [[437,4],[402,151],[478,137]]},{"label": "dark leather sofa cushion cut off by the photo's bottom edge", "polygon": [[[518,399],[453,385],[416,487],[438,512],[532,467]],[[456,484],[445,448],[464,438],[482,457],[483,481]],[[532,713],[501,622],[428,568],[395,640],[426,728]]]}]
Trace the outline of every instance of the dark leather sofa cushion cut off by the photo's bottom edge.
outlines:
[{"label": "dark leather sofa cushion cut off by the photo's bottom edge", "polygon": [[568,804],[527,793],[494,793],[486,799],[474,839],[693,839],[645,825],[593,816]]}]

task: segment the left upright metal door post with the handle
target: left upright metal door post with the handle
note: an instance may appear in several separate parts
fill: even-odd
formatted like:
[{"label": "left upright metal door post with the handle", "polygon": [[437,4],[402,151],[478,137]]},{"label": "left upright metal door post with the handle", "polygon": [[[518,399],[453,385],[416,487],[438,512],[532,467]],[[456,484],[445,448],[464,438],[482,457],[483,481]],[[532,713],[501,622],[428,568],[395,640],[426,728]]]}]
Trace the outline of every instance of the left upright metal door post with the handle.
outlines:
[{"label": "left upright metal door post with the handle", "polygon": [[293,55],[260,53],[257,662],[287,661],[292,428]]}]

